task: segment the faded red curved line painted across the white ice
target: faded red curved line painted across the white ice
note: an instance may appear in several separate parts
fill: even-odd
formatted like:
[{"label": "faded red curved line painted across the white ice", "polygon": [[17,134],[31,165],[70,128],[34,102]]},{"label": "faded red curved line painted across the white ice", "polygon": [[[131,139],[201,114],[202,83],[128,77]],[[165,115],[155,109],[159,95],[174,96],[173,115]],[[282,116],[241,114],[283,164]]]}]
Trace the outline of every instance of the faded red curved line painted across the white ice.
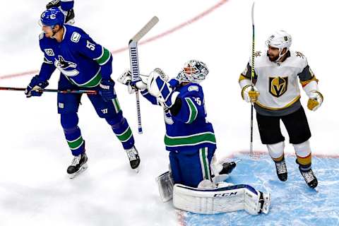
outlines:
[{"label": "faded red curved line painted across the white ice", "polygon": [[[202,13],[199,13],[197,16],[195,16],[194,18],[191,18],[190,20],[187,20],[184,23],[181,23],[177,26],[175,26],[174,28],[171,28],[165,32],[162,32],[158,35],[155,35],[153,37],[150,37],[142,42],[140,42],[140,44],[146,44],[148,42],[153,42],[155,40],[158,40],[162,37],[165,37],[169,34],[172,34],[173,32],[176,32],[177,30],[181,30],[182,28],[186,27],[187,25],[190,25],[191,23],[195,23],[196,21],[200,20],[201,18],[207,16],[208,14],[212,13],[213,11],[215,11],[215,9],[219,8],[220,6],[222,6],[223,4],[225,4],[228,0],[221,0],[219,1],[217,4],[215,4],[214,6],[208,8],[206,11],[203,11]],[[112,50],[112,54],[118,54],[120,52],[124,52],[127,49],[129,49],[129,47],[122,47],[119,49],[115,49]],[[25,71],[25,72],[21,72],[21,73],[12,73],[12,74],[8,74],[8,75],[4,75],[4,76],[0,76],[0,80],[1,79],[7,79],[7,78],[16,78],[16,77],[20,77],[20,76],[27,76],[27,75],[32,75],[32,74],[36,74],[39,73],[38,70],[35,71]]]}]

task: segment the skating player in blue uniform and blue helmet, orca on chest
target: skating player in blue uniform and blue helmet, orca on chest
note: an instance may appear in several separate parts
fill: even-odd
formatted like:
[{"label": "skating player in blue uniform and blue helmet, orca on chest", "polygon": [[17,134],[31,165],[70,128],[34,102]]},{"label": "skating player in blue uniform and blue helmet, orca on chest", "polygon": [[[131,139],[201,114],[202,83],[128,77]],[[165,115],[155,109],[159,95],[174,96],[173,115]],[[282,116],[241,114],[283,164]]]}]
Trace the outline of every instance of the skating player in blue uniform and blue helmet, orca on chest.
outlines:
[{"label": "skating player in blue uniform and blue helmet, orca on chest", "polygon": [[[114,91],[112,74],[112,54],[95,42],[81,28],[64,24],[64,13],[59,8],[49,8],[40,18],[42,34],[40,49],[44,52],[44,62],[40,73],[32,78],[25,90],[27,97],[41,96],[55,69],[61,71],[59,90],[96,90],[97,95],[88,95],[98,116],[112,126],[129,157],[132,169],[140,163],[134,146],[132,131],[123,117],[117,94]],[[58,93],[58,113],[64,129],[66,141],[74,156],[67,169],[73,178],[87,167],[85,141],[78,127],[78,107],[81,94]]]}]

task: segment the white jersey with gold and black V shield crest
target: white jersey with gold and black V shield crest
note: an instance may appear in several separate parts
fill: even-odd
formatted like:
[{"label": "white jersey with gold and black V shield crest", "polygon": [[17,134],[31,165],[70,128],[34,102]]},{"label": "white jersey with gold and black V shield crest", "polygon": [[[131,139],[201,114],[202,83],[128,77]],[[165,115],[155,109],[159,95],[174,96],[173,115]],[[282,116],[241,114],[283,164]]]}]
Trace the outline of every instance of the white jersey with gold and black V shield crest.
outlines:
[{"label": "white jersey with gold and black V shield crest", "polygon": [[[317,83],[306,57],[291,50],[280,63],[270,61],[266,52],[256,52],[254,72],[254,84],[260,93],[254,107],[263,115],[282,116],[295,112],[301,107],[299,81],[303,87],[311,81]],[[240,75],[239,84],[244,88],[251,85],[250,80],[251,60]]]}]

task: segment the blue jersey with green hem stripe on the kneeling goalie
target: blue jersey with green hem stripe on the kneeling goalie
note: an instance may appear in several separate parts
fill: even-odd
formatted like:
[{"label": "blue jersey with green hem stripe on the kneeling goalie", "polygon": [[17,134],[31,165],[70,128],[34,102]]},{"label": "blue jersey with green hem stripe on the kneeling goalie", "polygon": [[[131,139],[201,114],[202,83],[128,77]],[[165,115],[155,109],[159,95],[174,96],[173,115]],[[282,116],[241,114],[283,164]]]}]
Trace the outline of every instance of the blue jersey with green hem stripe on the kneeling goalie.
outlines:
[{"label": "blue jersey with green hem stripe on the kneeling goalie", "polygon": [[[205,100],[203,88],[197,83],[189,83],[174,88],[179,92],[177,98],[182,105],[177,114],[172,115],[165,111],[165,145],[166,150],[192,150],[192,148],[216,148],[213,126],[206,120]],[[143,97],[158,105],[157,98],[148,93],[141,92]]]}]

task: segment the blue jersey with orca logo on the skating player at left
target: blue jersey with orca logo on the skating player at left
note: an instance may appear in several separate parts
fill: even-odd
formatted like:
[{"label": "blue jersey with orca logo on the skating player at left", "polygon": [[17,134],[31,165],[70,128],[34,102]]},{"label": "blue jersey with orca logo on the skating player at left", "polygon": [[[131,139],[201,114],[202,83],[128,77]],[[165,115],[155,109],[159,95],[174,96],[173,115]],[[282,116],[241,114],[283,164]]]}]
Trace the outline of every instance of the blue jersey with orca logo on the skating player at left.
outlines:
[{"label": "blue jersey with orca logo on the skating player at left", "polygon": [[39,74],[41,81],[47,81],[57,68],[74,85],[91,88],[97,86],[102,78],[109,79],[112,74],[112,54],[81,28],[64,25],[61,42],[42,33],[40,49],[44,52]]}]

